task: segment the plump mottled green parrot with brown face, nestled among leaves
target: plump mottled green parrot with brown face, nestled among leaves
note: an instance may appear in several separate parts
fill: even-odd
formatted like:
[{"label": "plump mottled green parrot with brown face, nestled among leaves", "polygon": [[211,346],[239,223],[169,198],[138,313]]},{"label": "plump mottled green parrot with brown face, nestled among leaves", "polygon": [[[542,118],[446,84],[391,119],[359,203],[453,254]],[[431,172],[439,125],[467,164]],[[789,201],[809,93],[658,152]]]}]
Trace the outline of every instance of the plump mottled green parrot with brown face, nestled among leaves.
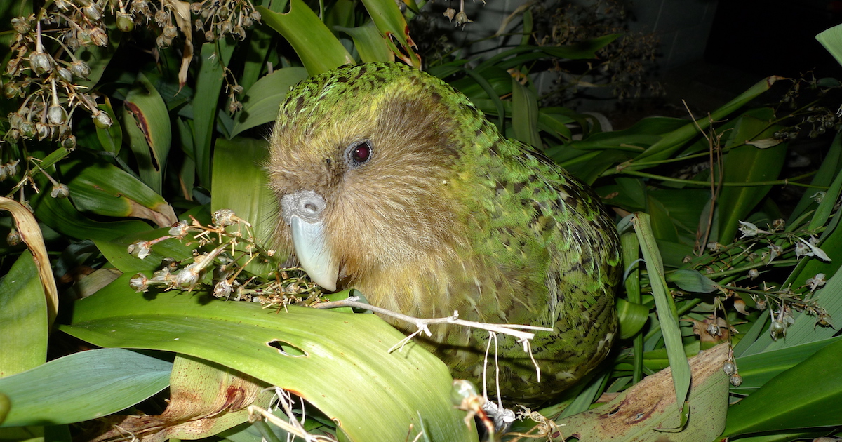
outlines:
[{"label": "plump mottled green parrot with brown face, nestled among leaves", "polygon": [[[440,79],[392,62],[324,72],[291,89],[270,146],[276,237],[313,282],[413,317],[554,329],[531,343],[540,382],[523,344],[492,340],[490,392],[495,351],[496,393],[521,403],[608,354],[620,254],[599,197]],[[487,331],[430,329],[418,340],[455,378],[482,379]]]}]

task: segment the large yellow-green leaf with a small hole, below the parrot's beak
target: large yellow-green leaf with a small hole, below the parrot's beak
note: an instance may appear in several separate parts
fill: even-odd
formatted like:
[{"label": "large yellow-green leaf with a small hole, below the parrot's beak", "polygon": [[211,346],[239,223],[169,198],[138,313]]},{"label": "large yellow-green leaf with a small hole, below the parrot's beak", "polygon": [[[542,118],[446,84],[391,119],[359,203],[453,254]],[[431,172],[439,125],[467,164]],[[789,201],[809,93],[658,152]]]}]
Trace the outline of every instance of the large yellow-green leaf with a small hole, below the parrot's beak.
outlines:
[{"label": "large yellow-green leaf with a small hole, below the parrot's beak", "polygon": [[413,343],[389,353],[403,335],[380,317],[263,309],[200,293],[132,294],[130,278],[77,301],[72,325],[61,329],[104,347],[189,354],[295,391],[351,440],[413,439],[419,419],[430,440],[476,440],[450,403],[445,365]]}]

